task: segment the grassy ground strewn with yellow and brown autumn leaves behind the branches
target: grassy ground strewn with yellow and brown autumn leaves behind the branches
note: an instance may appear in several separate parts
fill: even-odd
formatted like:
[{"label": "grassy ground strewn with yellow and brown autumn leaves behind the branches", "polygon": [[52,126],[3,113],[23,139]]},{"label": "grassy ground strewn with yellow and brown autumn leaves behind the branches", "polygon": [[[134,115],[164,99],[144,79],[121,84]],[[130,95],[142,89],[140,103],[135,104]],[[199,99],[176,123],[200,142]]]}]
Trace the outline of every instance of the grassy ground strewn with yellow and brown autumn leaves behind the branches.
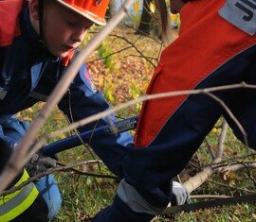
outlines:
[{"label": "grassy ground strewn with yellow and brown autumn leaves behind the branches", "polygon": [[[127,48],[124,50],[124,48]],[[134,35],[134,30],[119,28],[109,37],[95,54],[88,60],[92,79],[106,99],[114,106],[143,94],[147,88],[150,78],[154,72],[156,60],[161,50],[159,40]],[[119,52],[119,53],[116,53]],[[104,58],[99,60],[100,56]],[[154,58],[154,59],[153,59]],[[40,110],[41,104],[21,113],[21,116],[30,121],[35,113]],[[138,113],[140,104],[124,111],[119,111],[120,117],[133,116]],[[67,125],[60,111],[54,111],[42,128],[41,133],[63,128]],[[217,123],[217,126],[219,123]],[[219,129],[213,128],[208,136],[208,141],[213,149],[217,146]],[[62,139],[66,135],[60,135]],[[60,162],[71,164],[94,160],[89,147],[80,146],[59,155]],[[225,155],[235,157],[237,154],[245,155],[251,150],[238,142],[229,130],[225,144]],[[210,162],[206,143],[203,143],[194,157],[197,164]],[[250,159],[251,161],[251,159]],[[255,161],[255,159],[254,159]],[[79,170],[101,174],[111,174],[103,164],[93,164],[79,167]],[[256,192],[255,170],[246,170],[229,173],[226,177],[214,176],[203,186],[198,188],[192,195],[245,195]],[[115,196],[118,181],[116,179],[101,179],[87,177],[76,172],[62,172],[55,175],[64,197],[62,211],[59,213],[58,221],[85,221],[93,217],[102,208],[112,202]],[[193,199],[192,201],[196,201]],[[196,213],[180,213],[174,217],[175,221],[256,221],[256,207],[252,204],[243,204],[232,207],[201,210]],[[155,221],[171,221],[170,218],[155,218]]]}]

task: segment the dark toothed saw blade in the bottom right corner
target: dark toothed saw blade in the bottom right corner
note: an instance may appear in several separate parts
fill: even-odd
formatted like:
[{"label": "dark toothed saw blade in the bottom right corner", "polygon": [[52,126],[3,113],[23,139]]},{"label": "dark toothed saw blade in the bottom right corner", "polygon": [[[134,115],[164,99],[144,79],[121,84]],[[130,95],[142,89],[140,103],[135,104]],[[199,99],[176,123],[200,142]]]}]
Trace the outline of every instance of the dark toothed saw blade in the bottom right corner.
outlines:
[{"label": "dark toothed saw blade in the bottom right corner", "polygon": [[168,207],[164,210],[162,215],[167,215],[167,214],[174,215],[176,213],[181,213],[181,212],[189,213],[189,212],[195,212],[200,209],[221,207],[225,205],[234,205],[237,203],[256,203],[256,195],[233,196],[233,197],[227,197],[222,199],[213,199],[213,200],[201,201],[197,203],[190,203],[190,204]]}]

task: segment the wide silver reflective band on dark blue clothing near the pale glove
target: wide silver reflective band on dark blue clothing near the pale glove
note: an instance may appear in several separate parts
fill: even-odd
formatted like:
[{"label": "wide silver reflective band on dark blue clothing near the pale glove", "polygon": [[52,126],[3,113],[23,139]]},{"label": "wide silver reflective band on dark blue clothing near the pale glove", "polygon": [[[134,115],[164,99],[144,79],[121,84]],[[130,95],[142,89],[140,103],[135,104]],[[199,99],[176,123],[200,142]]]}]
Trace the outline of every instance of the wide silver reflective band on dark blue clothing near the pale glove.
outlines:
[{"label": "wide silver reflective band on dark blue clothing near the pale glove", "polygon": [[137,213],[157,215],[165,210],[165,208],[158,208],[149,204],[138,194],[136,188],[128,184],[124,179],[119,183],[118,196],[132,211]]}]

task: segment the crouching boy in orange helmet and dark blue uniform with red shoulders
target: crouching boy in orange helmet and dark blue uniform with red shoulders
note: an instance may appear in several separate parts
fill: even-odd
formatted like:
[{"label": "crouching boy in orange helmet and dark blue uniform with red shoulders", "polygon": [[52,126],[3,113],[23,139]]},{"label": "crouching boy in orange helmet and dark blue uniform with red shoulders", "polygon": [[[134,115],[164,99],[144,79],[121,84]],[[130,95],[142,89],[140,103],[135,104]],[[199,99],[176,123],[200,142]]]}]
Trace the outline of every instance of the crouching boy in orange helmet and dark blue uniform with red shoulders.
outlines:
[{"label": "crouching boy in orange helmet and dark blue uniform with red shoulders", "polygon": [[[7,0],[0,1],[0,139],[9,147],[27,132],[27,123],[14,114],[45,101],[72,60],[75,49],[93,24],[105,25],[108,0]],[[77,121],[109,109],[94,90],[86,65],[82,65],[59,108]],[[71,118],[72,115],[72,118]],[[115,121],[115,117],[111,116]],[[106,125],[107,119],[97,122]],[[80,128],[94,128],[96,123]],[[101,160],[122,177],[120,159],[132,139],[121,133],[91,143]],[[48,207],[48,219],[60,210],[62,198],[51,175],[35,182]]]}]

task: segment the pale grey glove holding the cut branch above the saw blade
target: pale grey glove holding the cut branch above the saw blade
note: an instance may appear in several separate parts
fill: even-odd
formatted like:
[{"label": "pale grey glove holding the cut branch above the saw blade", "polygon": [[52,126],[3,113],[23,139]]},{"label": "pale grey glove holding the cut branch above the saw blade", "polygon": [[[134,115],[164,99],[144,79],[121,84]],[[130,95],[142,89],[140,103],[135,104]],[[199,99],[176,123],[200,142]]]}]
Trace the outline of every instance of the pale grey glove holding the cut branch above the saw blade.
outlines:
[{"label": "pale grey glove holding the cut branch above the saw blade", "polygon": [[175,206],[191,202],[191,196],[186,187],[176,181],[173,181],[173,196],[171,202]]}]

